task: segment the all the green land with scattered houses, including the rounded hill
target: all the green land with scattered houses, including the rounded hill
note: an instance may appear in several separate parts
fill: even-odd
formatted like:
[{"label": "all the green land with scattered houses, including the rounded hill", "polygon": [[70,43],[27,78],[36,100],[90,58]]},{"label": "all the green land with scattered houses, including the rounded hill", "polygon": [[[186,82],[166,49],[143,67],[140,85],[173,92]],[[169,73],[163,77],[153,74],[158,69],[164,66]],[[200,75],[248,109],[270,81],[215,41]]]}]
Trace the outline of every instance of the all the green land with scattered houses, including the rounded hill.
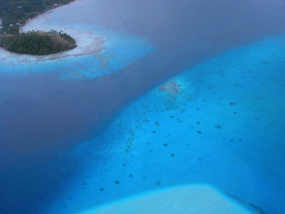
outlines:
[{"label": "all the green land with scattered houses, including the rounded hill", "polygon": [[0,8],[0,47],[15,53],[52,54],[77,47],[75,40],[63,31],[28,31],[19,33],[21,25],[52,8],[73,0],[3,0]]}]

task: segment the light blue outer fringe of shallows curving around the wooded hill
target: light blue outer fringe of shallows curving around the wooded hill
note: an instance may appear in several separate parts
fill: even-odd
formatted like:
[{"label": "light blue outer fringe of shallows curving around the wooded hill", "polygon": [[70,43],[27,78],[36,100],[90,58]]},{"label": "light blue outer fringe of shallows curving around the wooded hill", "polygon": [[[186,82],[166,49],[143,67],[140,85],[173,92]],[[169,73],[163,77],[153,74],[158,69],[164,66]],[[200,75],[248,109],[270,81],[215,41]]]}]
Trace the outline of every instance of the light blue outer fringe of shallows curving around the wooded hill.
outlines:
[{"label": "light blue outer fringe of shallows curving around the wooded hill", "polygon": [[[59,24],[54,23],[54,25]],[[153,44],[136,35],[114,32],[95,25],[74,24],[69,27],[92,32],[91,37],[104,41],[100,46],[101,51],[68,57],[56,53],[49,56],[59,58],[48,60],[46,56],[12,54],[0,62],[0,75],[19,77],[58,73],[60,79],[67,80],[94,78],[118,71],[155,51]]]}]

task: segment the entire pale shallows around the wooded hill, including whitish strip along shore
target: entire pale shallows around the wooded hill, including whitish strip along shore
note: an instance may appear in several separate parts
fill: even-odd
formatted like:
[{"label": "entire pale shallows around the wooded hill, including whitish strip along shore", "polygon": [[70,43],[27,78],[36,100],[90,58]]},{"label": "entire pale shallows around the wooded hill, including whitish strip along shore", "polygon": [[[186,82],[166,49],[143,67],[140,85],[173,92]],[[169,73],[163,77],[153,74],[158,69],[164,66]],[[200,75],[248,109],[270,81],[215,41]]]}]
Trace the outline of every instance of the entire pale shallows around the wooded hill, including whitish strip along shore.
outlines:
[{"label": "entire pale shallows around the wooded hill, including whitish strip along shore", "polygon": [[[3,76],[25,76],[37,73],[56,73],[60,79],[76,80],[94,78],[112,73],[155,51],[147,39],[136,35],[108,30],[106,27],[78,24],[54,23],[50,19],[66,12],[70,6],[54,9],[27,22],[21,29],[49,31],[64,30],[72,35],[78,47],[52,55],[23,55],[0,49],[0,74]],[[57,20],[58,21],[58,20]]]}]

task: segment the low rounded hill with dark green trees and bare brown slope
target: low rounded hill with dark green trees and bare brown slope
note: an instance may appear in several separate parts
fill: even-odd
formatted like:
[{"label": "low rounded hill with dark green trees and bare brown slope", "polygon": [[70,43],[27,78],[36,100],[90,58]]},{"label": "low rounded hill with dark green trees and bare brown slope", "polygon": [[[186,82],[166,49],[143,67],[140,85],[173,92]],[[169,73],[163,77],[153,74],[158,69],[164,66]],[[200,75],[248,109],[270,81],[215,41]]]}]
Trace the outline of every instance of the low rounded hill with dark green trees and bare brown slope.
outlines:
[{"label": "low rounded hill with dark green trees and bare brown slope", "polygon": [[51,54],[77,47],[72,37],[66,33],[47,32],[0,35],[0,46],[7,51],[36,55]]}]

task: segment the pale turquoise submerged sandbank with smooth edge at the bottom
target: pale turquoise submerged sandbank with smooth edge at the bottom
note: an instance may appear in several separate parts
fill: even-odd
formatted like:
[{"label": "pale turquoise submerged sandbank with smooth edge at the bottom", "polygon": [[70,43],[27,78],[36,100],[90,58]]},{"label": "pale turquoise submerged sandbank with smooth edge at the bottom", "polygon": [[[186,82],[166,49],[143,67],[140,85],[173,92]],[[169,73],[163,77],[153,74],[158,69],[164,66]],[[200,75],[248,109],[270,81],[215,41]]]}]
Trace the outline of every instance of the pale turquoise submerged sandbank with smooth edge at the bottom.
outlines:
[{"label": "pale turquoise submerged sandbank with smooth edge at the bottom", "polygon": [[84,214],[191,213],[249,214],[251,211],[208,185],[187,185],[158,191]]}]

